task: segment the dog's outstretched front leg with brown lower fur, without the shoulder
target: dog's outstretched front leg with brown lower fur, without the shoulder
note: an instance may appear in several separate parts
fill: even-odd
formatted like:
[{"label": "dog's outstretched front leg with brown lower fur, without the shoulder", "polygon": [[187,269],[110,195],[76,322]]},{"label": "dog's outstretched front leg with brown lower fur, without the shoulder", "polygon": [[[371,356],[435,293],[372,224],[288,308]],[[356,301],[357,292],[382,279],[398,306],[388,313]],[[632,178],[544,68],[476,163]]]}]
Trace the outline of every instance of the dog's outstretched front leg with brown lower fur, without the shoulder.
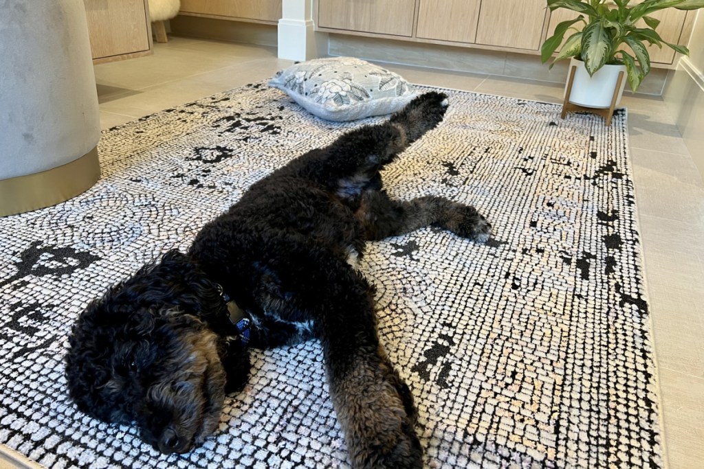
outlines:
[{"label": "dog's outstretched front leg with brown lower fur, without the shoulder", "polygon": [[[422,468],[417,411],[379,343],[370,289],[352,269],[319,321],[330,394],[354,468]],[[331,291],[332,293],[332,291]]]}]

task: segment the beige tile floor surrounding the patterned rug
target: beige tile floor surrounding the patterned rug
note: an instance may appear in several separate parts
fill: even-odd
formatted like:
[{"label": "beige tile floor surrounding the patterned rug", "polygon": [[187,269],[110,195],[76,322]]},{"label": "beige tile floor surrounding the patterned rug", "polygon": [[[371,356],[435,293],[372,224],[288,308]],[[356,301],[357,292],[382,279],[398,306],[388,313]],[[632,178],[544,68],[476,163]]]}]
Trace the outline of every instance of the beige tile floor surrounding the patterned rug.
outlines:
[{"label": "beige tile floor surrounding the patterned rug", "polygon": [[[172,37],[97,65],[103,129],[270,77],[275,48]],[[410,82],[562,102],[562,86],[386,65]],[[704,468],[704,184],[661,98],[624,96],[670,468]],[[699,240],[699,241],[698,241]]]}]

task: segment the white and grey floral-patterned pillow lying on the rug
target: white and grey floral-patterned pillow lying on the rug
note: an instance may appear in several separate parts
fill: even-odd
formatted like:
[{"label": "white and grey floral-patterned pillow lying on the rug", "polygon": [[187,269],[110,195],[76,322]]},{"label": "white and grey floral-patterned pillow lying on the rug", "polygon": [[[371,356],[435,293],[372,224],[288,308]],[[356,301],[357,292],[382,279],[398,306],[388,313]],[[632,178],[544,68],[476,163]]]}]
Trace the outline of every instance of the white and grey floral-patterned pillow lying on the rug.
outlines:
[{"label": "white and grey floral-patterned pillow lying on the rug", "polygon": [[357,120],[395,113],[417,92],[405,79],[351,57],[296,63],[270,79],[308,112],[325,120]]}]

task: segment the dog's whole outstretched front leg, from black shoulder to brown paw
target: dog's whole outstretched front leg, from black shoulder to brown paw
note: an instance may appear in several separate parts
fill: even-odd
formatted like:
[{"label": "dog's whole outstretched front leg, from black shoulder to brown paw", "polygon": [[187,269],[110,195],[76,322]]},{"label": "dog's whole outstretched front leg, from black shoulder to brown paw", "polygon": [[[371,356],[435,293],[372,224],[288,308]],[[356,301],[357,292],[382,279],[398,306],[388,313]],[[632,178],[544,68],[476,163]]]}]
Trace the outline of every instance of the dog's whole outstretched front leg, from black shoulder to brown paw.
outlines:
[{"label": "dog's whole outstretched front leg, from black shoulder to brown paw", "polygon": [[267,269],[286,285],[290,314],[313,319],[353,467],[422,468],[417,411],[379,342],[372,287],[344,257],[310,240],[275,243],[288,255],[269,258]]}]

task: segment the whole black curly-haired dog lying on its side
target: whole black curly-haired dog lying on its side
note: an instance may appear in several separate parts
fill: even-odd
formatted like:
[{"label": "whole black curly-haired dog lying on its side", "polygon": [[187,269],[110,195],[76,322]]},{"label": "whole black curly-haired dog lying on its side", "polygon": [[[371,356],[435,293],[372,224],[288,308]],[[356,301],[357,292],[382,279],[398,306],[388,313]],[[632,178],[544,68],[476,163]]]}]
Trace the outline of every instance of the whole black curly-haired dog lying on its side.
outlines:
[{"label": "whole black curly-haired dog lying on its side", "polygon": [[444,94],[427,93],[383,124],[311,150],[253,184],[187,254],[165,253],[89,304],[66,357],[80,410],[136,423],[154,448],[184,453],[217,428],[225,393],[244,387],[244,342],[318,338],[353,466],[422,467],[413,398],[379,344],[372,286],[346,259],[366,240],[422,226],[489,238],[473,207],[382,190],[379,170],[446,108]]}]

